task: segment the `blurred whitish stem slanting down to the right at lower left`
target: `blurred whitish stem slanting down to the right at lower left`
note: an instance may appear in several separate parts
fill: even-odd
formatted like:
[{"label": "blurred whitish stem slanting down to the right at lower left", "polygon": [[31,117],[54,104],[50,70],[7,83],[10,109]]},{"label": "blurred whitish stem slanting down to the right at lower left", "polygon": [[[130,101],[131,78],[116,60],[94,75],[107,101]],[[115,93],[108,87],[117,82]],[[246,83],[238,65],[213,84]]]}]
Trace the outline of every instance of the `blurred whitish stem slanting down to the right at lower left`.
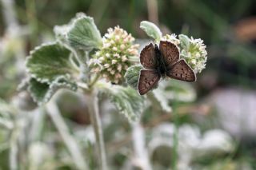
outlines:
[{"label": "blurred whitish stem slanting down to the right at lower left", "polygon": [[47,113],[49,114],[52,121],[54,121],[54,125],[58,129],[58,132],[61,134],[64,143],[66,144],[66,148],[70,151],[71,157],[74,160],[74,164],[77,166],[78,169],[84,170],[89,169],[89,166],[86,164],[85,159],[82,156],[82,152],[78,148],[78,144],[74,140],[74,138],[70,135],[69,129],[63,120],[61,113],[58,109],[58,106],[52,99],[46,105]]}]

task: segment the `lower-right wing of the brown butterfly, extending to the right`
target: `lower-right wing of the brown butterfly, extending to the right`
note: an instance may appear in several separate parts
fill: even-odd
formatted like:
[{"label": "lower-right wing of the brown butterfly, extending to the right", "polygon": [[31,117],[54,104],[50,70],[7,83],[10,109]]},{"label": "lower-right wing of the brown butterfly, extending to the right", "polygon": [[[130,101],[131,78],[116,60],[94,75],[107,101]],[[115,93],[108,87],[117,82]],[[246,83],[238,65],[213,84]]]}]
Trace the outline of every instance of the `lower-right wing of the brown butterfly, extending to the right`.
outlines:
[{"label": "lower-right wing of the brown butterfly, extending to the right", "polygon": [[196,80],[196,76],[193,69],[191,69],[190,66],[186,64],[186,61],[183,59],[176,62],[169,68],[167,69],[166,73],[168,77],[189,82]]}]

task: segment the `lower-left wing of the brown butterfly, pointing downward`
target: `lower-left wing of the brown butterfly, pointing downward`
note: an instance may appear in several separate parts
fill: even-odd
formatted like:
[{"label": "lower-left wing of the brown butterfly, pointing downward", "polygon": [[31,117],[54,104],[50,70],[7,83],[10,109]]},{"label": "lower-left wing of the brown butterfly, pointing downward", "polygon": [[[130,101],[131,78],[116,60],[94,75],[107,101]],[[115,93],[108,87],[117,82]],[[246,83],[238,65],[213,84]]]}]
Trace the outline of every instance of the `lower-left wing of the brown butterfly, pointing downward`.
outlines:
[{"label": "lower-left wing of the brown butterfly, pointing downward", "polygon": [[160,79],[158,71],[155,69],[146,70],[142,69],[138,79],[138,93],[143,95],[154,88]]}]

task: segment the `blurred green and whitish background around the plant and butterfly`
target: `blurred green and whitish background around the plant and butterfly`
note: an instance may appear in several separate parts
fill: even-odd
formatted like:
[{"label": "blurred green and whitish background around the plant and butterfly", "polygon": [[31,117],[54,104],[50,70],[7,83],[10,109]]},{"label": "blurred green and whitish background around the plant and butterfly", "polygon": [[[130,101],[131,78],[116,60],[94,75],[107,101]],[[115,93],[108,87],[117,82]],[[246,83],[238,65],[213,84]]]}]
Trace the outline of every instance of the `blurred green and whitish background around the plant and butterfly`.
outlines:
[{"label": "blurred green and whitish background around the plant and butterfly", "polygon": [[[207,46],[206,69],[197,82],[162,87],[179,88],[178,101],[169,98],[175,114],[151,105],[141,125],[131,127],[107,100],[101,101],[110,169],[147,169],[145,164],[152,169],[256,169],[254,0],[0,0],[0,106],[7,110],[16,102],[22,108],[1,114],[0,169],[15,169],[12,152],[18,152],[22,169],[75,169],[53,121],[43,109],[34,111],[29,94],[17,88],[30,50],[53,41],[54,26],[68,23],[78,12],[93,17],[102,35],[118,25],[134,38],[148,39],[139,28],[147,20],[164,34],[202,38]],[[71,135],[90,168],[97,169],[86,104],[74,93],[59,95]],[[13,130],[11,122],[20,127]]]}]

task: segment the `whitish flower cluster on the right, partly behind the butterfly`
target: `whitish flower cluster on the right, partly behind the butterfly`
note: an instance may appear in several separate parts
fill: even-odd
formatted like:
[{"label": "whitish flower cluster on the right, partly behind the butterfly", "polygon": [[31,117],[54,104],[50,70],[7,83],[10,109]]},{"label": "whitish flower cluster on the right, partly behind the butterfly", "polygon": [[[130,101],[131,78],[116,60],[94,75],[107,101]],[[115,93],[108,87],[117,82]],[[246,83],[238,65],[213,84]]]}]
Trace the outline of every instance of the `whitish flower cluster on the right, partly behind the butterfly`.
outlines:
[{"label": "whitish flower cluster on the right, partly behind the butterfly", "polygon": [[190,38],[187,49],[181,50],[181,57],[194,69],[194,73],[201,73],[206,68],[207,51],[202,39]]}]

